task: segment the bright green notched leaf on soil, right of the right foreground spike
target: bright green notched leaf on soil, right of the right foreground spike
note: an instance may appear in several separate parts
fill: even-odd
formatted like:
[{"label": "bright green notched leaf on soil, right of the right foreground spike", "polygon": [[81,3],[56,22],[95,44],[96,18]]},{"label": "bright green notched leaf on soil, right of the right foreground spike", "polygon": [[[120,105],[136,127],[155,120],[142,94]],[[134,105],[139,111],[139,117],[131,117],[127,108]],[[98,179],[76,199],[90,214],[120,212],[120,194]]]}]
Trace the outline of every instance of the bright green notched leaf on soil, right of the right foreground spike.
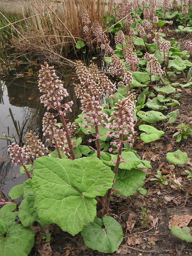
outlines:
[{"label": "bright green notched leaf on soil, right of the right foreground spike", "polygon": [[164,134],[163,131],[158,131],[155,127],[147,124],[140,125],[139,129],[140,131],[144,131],[141,133],[140,137],[145,143],[158,140]]}]

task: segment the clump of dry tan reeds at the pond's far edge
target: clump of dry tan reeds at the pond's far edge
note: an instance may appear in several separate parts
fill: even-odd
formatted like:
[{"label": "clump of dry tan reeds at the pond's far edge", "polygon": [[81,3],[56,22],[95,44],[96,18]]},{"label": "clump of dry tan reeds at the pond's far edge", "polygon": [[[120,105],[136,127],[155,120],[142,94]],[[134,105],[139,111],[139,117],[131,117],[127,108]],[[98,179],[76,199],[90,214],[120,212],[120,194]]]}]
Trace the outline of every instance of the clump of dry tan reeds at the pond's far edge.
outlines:
[{"label": "clump of dry tan reeds at the pond's far edge", "polygon": [[[84,5],[91,22],[98,20],[103,29],[106,0],[30,0],[29,19],[21,26],[21,34],[13,43],[17,50],[35,52],[40,60],[60,62],[70,50],[76,52],[76,42],[84,40],[79,5]],[[108,2],[110,16],[113,1]],[[107,22],[107,19],[106,19]]]}]

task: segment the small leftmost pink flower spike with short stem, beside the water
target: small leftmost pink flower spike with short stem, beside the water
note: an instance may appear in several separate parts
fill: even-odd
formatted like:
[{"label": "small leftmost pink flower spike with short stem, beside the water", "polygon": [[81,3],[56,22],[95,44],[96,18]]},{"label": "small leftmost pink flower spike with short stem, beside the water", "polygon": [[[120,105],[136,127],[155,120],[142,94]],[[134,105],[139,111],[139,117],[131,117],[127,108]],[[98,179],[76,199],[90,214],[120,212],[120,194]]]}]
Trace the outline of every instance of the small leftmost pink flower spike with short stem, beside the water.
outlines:
[{"label": "small leftmost pink flower spike with short stem, beside the water", "polygon": [[26,168],[27,159],[29,158],[28,152],[26,151],[26,147],[19,147],[19,145],[13,142],[8,146],[9,156],[12,158],[12,163],[15,165],[21,164],[24,167],[24,172],[27,173],[28,178],[31,179],[31,174],[28,172]]}]

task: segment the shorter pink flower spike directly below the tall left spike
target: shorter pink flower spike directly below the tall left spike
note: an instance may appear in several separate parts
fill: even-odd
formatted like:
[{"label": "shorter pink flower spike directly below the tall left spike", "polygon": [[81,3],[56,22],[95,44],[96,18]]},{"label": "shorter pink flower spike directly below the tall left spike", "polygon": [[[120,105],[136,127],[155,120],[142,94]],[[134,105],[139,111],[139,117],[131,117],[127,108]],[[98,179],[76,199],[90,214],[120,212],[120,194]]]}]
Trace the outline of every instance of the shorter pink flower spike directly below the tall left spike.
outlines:
[{"label": "shorter pink flower spike directly below the tall left spike", "polygon": [[52,143],[52,141],[54,141],[54,147],[57,149],[58,156],[62,158],[59,149],[61,149],[64,154],[69,150],[67,148],[66,132],[60,129],[57,120],[54,119],[54,116],[49,112],[45,112],[43,117],[43,132],[43,136],[49,136],[49,138],[46,139],[47,142]]}]

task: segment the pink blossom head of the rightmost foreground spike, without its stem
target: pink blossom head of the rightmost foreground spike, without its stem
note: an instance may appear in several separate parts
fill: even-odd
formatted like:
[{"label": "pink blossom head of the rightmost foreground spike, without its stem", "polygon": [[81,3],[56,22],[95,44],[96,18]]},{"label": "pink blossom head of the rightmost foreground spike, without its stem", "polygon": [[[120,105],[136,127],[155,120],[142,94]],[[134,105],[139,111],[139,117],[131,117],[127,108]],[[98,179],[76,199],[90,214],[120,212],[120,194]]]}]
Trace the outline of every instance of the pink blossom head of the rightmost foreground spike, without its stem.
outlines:
[{"label": "pink blossom head of the rightmost foreground spike, without its stem", "polygon": [[[106,124],[106,128],[113,129],[114,132],[108,132],[106,135],[110,138],[114,137],[115,140],[111,142],[111,145],[120,148],[122,141],[119,141],[119,136],[127,136],[127,139],[124,142],[127,142],[129,146],[132,146],[134,131],[134,112],[135,112],[135,93],[130,94],[127,98],[123,100],[118,100],[116,106],[113,107],[111,112],[111,117],[109,117],[109,123]],[[113,149],[110,148],[109,152]]]}]

